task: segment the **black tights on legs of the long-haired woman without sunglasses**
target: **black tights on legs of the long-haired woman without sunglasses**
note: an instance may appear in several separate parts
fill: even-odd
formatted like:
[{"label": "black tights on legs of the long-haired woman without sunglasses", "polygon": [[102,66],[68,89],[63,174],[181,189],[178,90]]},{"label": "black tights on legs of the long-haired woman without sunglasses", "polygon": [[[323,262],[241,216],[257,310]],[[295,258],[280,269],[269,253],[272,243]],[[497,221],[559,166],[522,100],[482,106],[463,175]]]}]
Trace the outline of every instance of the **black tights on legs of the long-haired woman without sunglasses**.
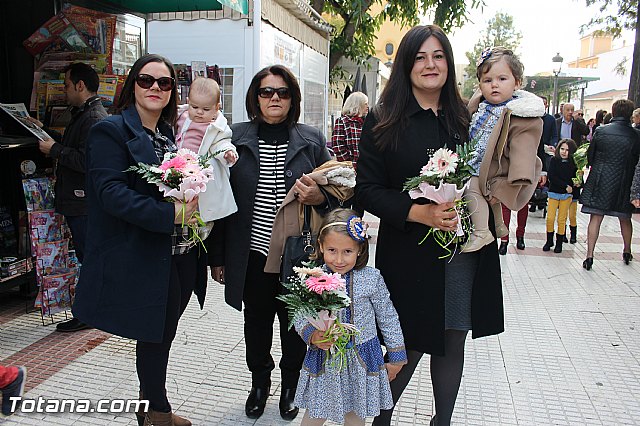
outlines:
[{"label": "black tights on legs of the long-haired woman without sunglasses", "polygon": [[[460,380],[462,380],[462,369],[464,367],[464,343],[467,338],[467,331],[446,330],[444,332],[444,353],[445,356],[431,355],[431,383],[433,385],[433,398],[436,403],[437,426],[448,426],[451,423],[453,408],[458,397]],[[408,363],[402,367],[395,380],[391,382],[391,395],[393,403],[396,404],[402,392],[409,384],[411,376],[415,371],[422,352],[407,351]],[[373,421],[374,426],[387,426],[391,424],[393,408],[391,410],[381,410]]]}]

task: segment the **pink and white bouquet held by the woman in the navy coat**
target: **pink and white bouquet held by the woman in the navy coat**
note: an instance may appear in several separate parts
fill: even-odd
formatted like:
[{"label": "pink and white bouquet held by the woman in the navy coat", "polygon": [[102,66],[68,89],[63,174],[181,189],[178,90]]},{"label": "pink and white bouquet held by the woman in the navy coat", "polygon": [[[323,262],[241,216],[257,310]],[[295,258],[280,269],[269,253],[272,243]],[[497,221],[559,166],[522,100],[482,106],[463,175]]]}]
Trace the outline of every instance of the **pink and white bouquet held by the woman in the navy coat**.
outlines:
[{"label": "pink and white bouquet held by the woman in the navy coat", "polygon": [[[193,151],[183,148],[176,152],[168,152],[160,165],[138,163],[131,166],[127,172],[136,172],[149,183],[158,186],[162,194],[170,201],[178,200],[182,205],[182,226],[185,225],[184,204],[193,200],[201,192],[207,190],[207,182],[213,179],[213,168],[208,164],[210,155],[197,155]],[[200,214],[196,211],[192,217],[196,224],[187,225],[190,228],[189,242],[200,243],[204,247],[202,238],[198,235],[198,228],[204,226]]]}]

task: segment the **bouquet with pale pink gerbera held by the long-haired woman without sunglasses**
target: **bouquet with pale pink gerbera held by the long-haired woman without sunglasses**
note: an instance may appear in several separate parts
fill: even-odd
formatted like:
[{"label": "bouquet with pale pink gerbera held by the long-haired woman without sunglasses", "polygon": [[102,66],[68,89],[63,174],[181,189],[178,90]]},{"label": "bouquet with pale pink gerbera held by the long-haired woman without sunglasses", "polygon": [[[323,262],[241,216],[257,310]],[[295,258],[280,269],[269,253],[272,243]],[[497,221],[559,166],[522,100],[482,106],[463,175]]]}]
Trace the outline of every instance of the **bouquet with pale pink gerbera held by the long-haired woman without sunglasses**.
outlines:
[{"label": "bouquet with pale pink gerbera held by the long-haired woman without sunglasses", "polygon": [[[474,146],[472,142],[459,145],[456,152],[440,148],[433,153],[420,171],[420,175],[407,179],[404,184],[403,189],[409,191],[412,199],[427,198],[438,204],[455,202],[458,228],[455,231],[431,228],[419,243],[422,244],[427,237],[433,235],[438,245],[446,251],[441,259],[452,256],[455,246],[464,242],[473,230],[467,210],[468,202],[462,199],[462,194],[472,176],[473,169],[469,163],[473,157]],[[452,244],[454,250],[450,248]]]}]

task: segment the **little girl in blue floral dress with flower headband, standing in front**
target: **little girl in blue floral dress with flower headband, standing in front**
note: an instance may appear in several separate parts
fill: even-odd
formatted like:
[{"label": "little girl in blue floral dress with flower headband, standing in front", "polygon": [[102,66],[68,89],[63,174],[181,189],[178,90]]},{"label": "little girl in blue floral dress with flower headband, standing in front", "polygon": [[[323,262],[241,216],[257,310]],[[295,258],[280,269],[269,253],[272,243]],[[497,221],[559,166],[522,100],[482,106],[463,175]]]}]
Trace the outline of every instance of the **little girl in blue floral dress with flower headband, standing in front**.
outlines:
[{"label": "little girl in blue floral dress with flower headband, standing in front", "polygon": [[[321,225],[317,260],[324,262],[326,272],[339,273],[345,279],[351,305],[342,309],[338,318],[342,323],[353,324],[359,333],[352,338],[346,364],[340,368],[327,362],[332,344],[326,342],[324,332],[307,320],[296,321],[296,330],[309,345],[295,398],[298,407],[307,409],[303,426],[322,425],[327,419],[364,425],[366,417],[393,407],[389,381],[406,364],[407,354],[398,314],[382,275],[366,266],[367,238],[366,225],[353,210],[333,210]],[[376,322],[387,344],[387,363]]]}]

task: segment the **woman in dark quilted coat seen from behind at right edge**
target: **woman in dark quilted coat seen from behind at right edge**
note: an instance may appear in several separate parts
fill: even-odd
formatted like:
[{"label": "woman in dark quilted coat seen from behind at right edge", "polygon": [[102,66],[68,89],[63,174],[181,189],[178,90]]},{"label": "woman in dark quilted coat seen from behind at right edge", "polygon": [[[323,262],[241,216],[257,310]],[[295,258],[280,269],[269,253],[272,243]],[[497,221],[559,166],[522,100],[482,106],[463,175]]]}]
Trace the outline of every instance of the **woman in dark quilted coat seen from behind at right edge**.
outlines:
[{"label": "woman in dark quilted coat seen from behind at right edge", "polygon": [[632,128],[630,122],[633,107],[630,100],[615,101],[611,106],[611,123],[598,127],[587,151],[591,170],[580,196],[582,213],[591,215],[587,231],[587,258],[582,263],[587,271],[593,265],[593,251],[605,216],[615,216],[620,221],[620,233],[624,242],[622,260],[628,265],[633,259],[633,205],[629,197],[640,154],[640,132]]}]

